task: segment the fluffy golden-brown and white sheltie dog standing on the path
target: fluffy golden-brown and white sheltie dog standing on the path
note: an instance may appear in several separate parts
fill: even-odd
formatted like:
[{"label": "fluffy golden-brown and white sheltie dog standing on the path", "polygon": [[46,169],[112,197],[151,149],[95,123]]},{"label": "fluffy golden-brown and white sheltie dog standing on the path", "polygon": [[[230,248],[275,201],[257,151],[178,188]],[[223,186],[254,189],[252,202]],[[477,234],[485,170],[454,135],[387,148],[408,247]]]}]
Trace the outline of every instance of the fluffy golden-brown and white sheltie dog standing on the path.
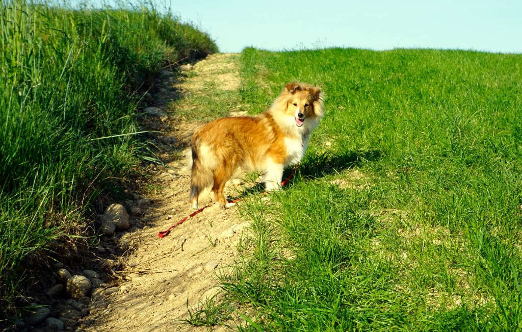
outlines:
[{"label": "fluffy golden-brown and white sheltie dog standing on the path", "polygon": [[321,89],[290,82],[264,113],[218,118],[199,127],[189,156],[192,208],[197,209],[199,194],[210,186],[217,202],[234,205],[227,203],[223,188],[239,167],[263,171],[266,191],[279,188],[284,167],[299,163],[323,114]]}]

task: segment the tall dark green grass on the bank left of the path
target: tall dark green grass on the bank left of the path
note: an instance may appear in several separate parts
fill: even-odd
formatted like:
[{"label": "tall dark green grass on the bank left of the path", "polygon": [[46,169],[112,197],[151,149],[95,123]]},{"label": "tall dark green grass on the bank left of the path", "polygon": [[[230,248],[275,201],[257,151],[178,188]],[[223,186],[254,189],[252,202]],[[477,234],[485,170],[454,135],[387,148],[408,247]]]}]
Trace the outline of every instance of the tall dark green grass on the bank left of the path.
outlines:
[{"label": "tall dark green grass on the bank left of the path", "polygon": [[[86,235],[90,203],[121,195],[144,156],[141,86],[216,44],[151,6],[0,4],[0,307],[11,313],[31,258]],[[78,231],[79,230],[79,231]],[[20,302],[18,304],[23,304]],[[0,321],[2,316],[0,316]]]}]

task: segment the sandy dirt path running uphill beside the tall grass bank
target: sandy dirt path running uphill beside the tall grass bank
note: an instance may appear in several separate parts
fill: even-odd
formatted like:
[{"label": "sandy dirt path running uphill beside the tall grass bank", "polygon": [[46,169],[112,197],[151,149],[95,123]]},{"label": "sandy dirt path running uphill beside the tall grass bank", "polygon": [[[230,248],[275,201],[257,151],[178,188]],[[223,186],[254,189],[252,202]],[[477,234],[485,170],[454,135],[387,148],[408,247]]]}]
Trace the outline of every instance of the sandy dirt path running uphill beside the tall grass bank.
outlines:
[{"label": "sandy dirt path running uphill beside the tall grass bank", "polygon": [[[158,94],[149,96],[157,109],[149,109],[148,118],[157,117],[165,132],[157,136],[158,146],[186,146],[198,123],[180,120],[177,111],[197,109],[206,89],[212,87],[239,93],[239,55],[215,54],[195,64],[180,81],[164,71]],[[174,89],[173,89],[174,88]],[[181,91],[183,98],[169,101],[169,93]],[[218,90],[219,92],[219,90]],[[150,105],[150,104],[149,104]],[[231,105],[229,111],[234,111]],[[171,112],[172,111],[172,112]],[[181,123],[180,123],[181,121]],[[168,125],[165,125],[168,124]],[[184,169],[181,153],[167,153],[162,157],[168,168],[157,168],[149,185],[157,188],[151,194],[150,206],[141,206],[141,215],[135,216],[145,226],[127,233],[125,241],[134,252],[125,259],[125,269],[119,272],[120,290],[105,299],[108,308],[94,312],[79,330],[87,331],[177,331],[208,330],[181,322],[189,317],[189,307],[199,300],[211,297],[218,290],[216,274],[233,263],[237,255],[235,243],[247,226],[240,220],[237,208],[227,210],[213,205],[187,220],[160,239],[158,232],[188,215],[189,172]],[[235,180],[238,184],[239,181]],[[226,193],[235,191],[228,184]],[[200,199],[200,206],[210,203],[209,197]],[[145,200],[145,205],[147,200]],[[225,330],[218,326],[213,330]]]}]

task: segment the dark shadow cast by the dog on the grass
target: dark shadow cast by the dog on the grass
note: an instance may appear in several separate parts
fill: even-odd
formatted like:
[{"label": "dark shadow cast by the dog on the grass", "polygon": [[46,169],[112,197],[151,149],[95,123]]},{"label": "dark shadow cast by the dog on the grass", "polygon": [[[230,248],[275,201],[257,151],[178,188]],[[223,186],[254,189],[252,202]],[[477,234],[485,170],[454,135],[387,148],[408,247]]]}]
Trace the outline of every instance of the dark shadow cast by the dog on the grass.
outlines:
[{"label": "dark shadow cast by the dog on the grass", "polygon": [[[343,150],[341,152],[309,153],[300,163],[294,176],[288,181],[287,186],[303,180],[318,179],[330,174],[338,174],[343,170],[357,167],[363,162],[376,161],[379,158],[381,158],[381,151],[379,150]],[[288,179],[293,171],[293,168],[286,168],[283,173],[283,180]],[[265,193],[265,184],[255,183],[251,187],[243,187],[243,191],[238,196],[229,196],[228,200],[235,201],[263,193]]]}]

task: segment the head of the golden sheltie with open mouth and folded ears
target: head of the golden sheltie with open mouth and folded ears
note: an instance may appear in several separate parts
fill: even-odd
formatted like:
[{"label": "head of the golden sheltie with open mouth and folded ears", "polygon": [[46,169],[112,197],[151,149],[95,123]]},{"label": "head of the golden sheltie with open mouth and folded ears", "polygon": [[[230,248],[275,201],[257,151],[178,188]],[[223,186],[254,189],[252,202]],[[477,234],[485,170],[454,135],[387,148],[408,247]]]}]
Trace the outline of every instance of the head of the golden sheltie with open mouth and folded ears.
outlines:
[{"label": "head of the golden sheltie with open mouth and folded ears", "polygon": [[306,118],[317,121],[323,117],[323,93],[309,84],[290,82],[282,93],[286,99],[286,113],[293,115],[295,125],[301,127]]}]

